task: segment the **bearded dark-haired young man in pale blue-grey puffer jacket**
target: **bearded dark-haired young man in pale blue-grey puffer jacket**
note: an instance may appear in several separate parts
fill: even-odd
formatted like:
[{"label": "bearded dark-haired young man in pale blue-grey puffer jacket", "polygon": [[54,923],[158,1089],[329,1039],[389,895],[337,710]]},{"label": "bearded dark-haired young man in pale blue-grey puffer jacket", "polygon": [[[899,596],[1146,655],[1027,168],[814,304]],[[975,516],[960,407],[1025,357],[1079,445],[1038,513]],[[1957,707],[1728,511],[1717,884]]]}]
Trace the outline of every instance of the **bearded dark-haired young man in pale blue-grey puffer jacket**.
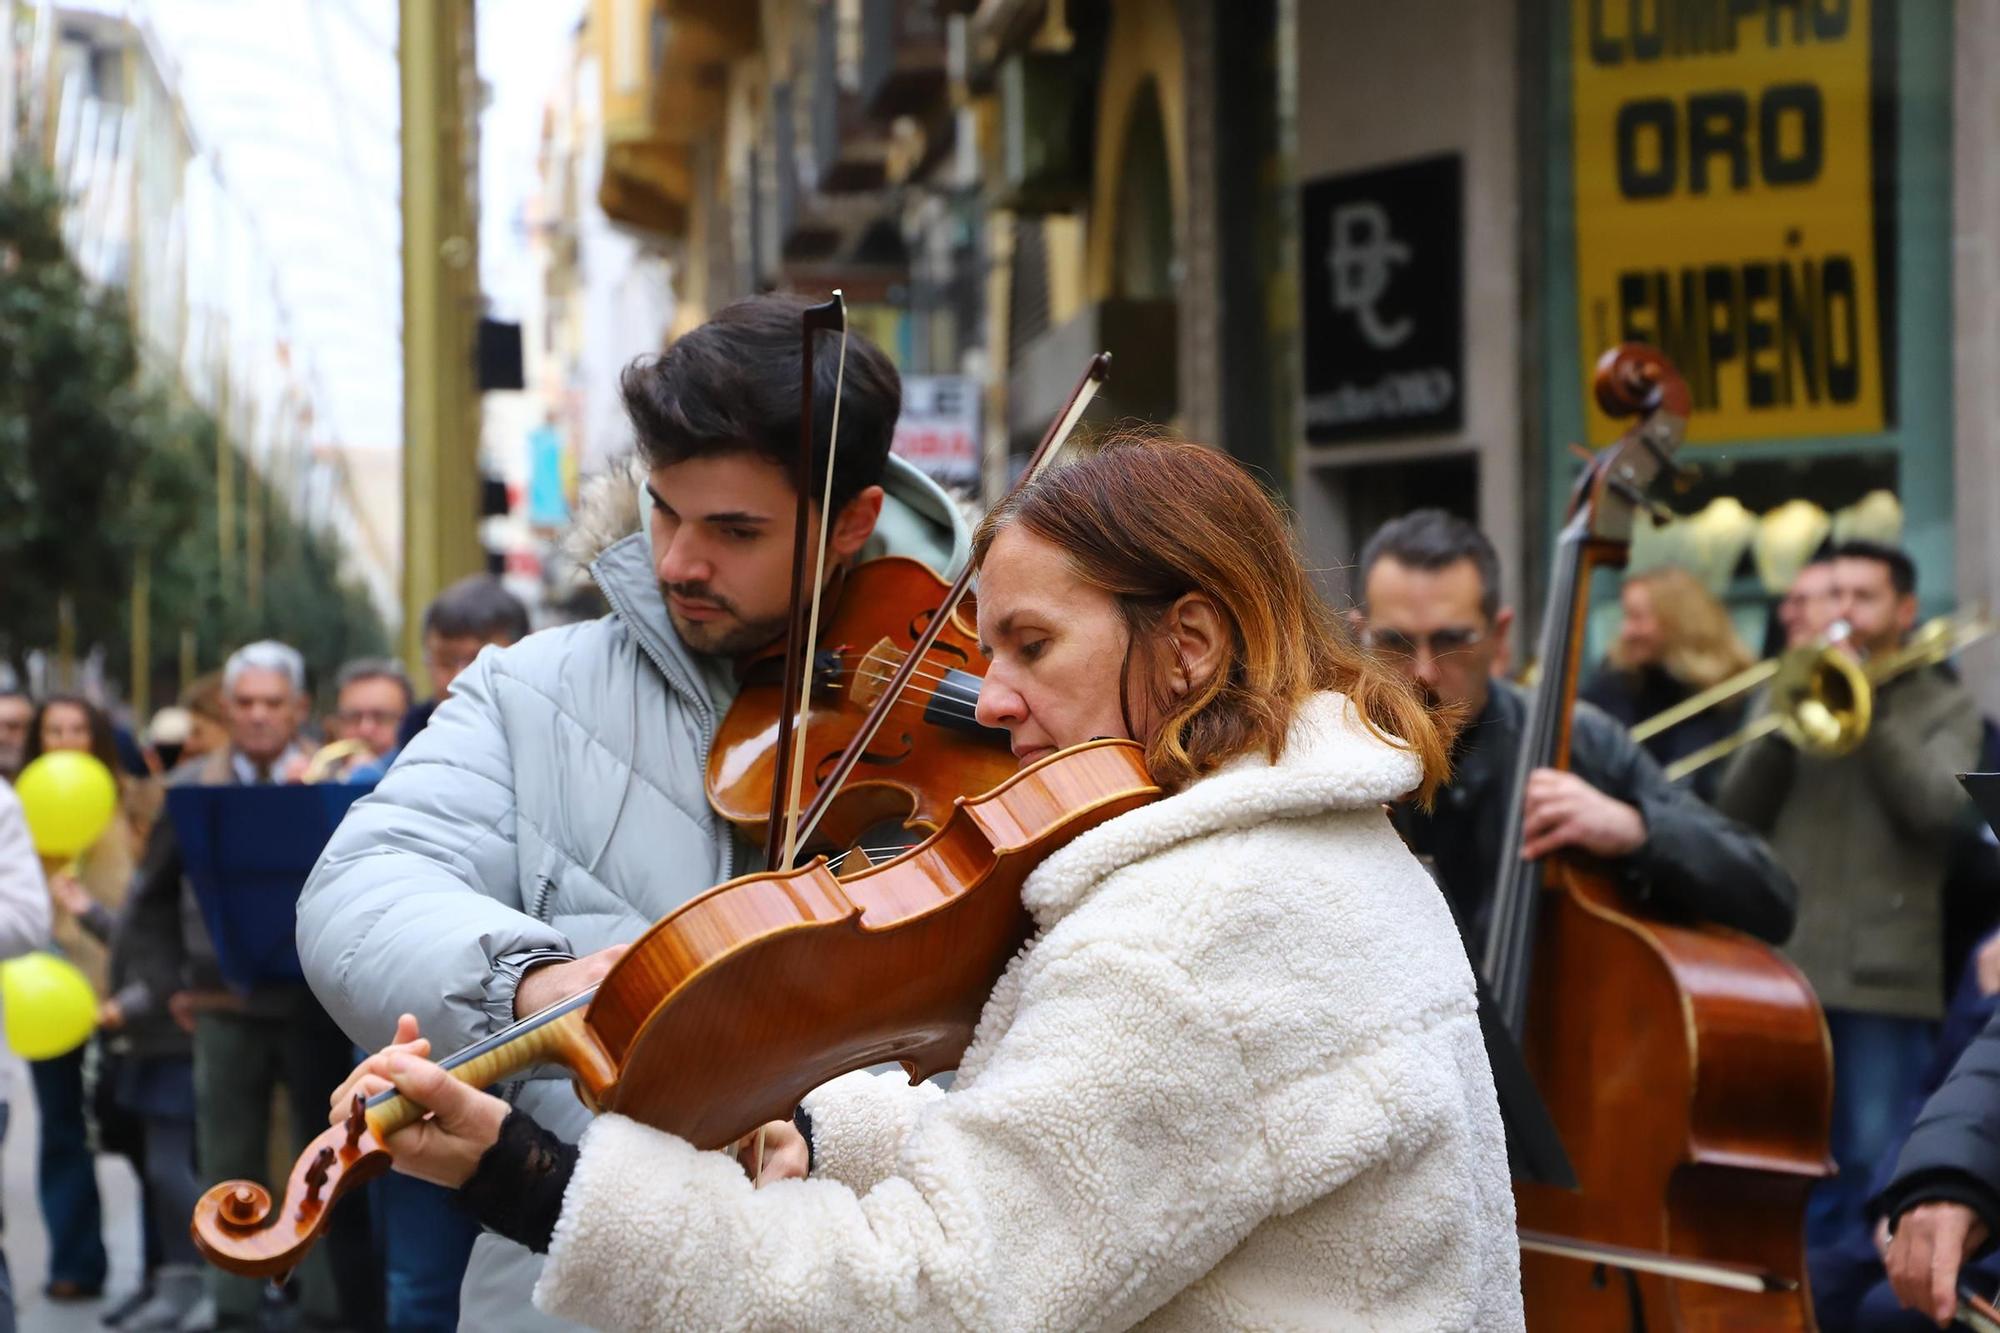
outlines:
[{"label": "bearded dark-haired young man in pale blue-grey puffer jacket", "polygon": [[[382,1045],[414,1013],[440,1047],[470,1045],[594,985],[658,917],[760,869],[710,811],[704,769],[736,660],[786,630],[804,306],[730,304],[624,372],[646,484],[628,536],[592,566],[610,614],[482,650],[334,835],[298,903],[298,953],[358,1043]],[[888,452],[902,386],[858,334],[820,514],[836,352],[838,336],[818,334],[810,520],[814,538],[828,522],[828,566],[962,564],[964,518]],[[526,1083],[516,1105],[566,1139],[588,1123],[562,1079]],[[462,1325],[552,1327],[528,1299],[538,1269],[480,1237]]]}]

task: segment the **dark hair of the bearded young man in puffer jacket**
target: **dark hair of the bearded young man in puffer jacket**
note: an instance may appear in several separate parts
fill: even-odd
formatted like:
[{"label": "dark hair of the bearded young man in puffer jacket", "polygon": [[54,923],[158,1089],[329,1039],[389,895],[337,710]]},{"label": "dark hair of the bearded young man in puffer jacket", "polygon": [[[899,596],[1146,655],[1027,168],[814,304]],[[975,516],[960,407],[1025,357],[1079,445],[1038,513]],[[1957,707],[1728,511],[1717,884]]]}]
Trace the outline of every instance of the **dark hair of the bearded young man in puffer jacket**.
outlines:
[{"label": "dark hair of the bearded young man in puffer jacket", "polygon": [[[754,452],[790,470],[798,458],[800,314],[804,296],[748,296],[716,310],[658,356],[618,376],[640,458],[660,468],[688,458]],[[840,336],[812,346],[812,498],[826,488]],[[840,390],[840,458],[834,512],[882,480],[902,410],[902,378],[868,338],[848,334]]]}]

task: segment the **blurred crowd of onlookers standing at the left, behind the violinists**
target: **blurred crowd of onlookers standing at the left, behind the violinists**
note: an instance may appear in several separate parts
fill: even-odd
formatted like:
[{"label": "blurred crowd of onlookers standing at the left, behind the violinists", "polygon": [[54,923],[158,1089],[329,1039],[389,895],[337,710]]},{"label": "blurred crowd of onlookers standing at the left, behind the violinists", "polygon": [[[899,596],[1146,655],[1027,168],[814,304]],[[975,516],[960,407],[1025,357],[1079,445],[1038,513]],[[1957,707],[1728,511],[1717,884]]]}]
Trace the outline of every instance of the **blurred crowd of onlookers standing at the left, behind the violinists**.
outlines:
[{"label": "blurred crowd of onlookers standing at the left, behind the violinists", "polygon": [[[334,673],[332,709],[316,715],[304,658],[270,640],[236,650],[142,729],[82,695],[0,691],[0,955],[54,949],[98,995],[84,1047],[28,1061],[48,1271],[12,1281],[36,1281],[56,1303],[102,1301],[102,1323],[126,1333],[456,1327],[476,1229],[408,1177],[336,1209],[328,1243],[282,1291],[200,1261],[188,1219],[202,1189],[284,1179],[326,1127],[356,1049],[304,985],[222,981],[164,797],[178,785],[372,785],[484,646],[526,632],[520,600],[474,576],[426,612],[424,699],[400,662],[358,658]],[[34,855],[10,787],[62,749],[96,757],[120,793],[106,833],[68,865]],[[100,1155],[128,1159],[140,1185],[142,1283],[130,1291],[106,1291]],[[0,1289],[10,1327],[4,1265]]]}]

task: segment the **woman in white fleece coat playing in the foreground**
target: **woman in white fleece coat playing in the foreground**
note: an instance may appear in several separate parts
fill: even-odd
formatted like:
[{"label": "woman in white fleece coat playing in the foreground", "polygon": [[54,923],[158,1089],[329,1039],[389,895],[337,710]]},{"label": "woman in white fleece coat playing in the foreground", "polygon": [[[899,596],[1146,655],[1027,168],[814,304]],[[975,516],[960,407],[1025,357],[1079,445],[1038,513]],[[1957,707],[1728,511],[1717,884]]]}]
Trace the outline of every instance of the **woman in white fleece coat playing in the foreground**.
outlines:
[{"label": "woman in white fleece coat playing in the foreground", "polygon": [[1472,973],[1382,813],[1444,777],[1438,721],[1212,450],[1050,470],[974,558],[980,721],[1022,763],[1136,739],[1168,797],[1028,879],[950,1091],[828,1083],[758,1189],[616,1115],[562,1145],[406,1019],[336,1119],[356,1087],[430,1107],[396,1169],[546,1251],[536,1303],[596,1327],[1518,1329]]}]

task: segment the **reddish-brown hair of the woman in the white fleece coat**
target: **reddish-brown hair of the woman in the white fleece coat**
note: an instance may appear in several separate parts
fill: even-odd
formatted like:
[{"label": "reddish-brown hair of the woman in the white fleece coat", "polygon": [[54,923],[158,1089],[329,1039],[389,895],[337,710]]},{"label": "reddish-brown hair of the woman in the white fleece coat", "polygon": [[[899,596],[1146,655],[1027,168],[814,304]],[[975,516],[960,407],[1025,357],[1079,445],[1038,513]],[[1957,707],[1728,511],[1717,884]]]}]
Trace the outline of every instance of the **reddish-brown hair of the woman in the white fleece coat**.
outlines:
[{"label": "reddish-brown hair of the woman in the white fleece coat", "polygon": [[[1340,691],[1370,731],[1416,753],[1420,801],[1450,771],[1450,719],[1426,711],[1414,689],[1354,642],[1314,590],[1284,514],[1226,454],[1180,440],[1114,438],[994,506],[972,536],[974,564],[1016,522],[1118,600],[1128,662],[1130,652],[1142,654],[1142,681],[1166,675],[1152,630],[1180,596],[1202,592],[1222,612],[1228,671],[1180,699],[1156,689],[1162,725],[1146,767],[1168,791],[1252,751],[1276,761],[1300,705],[1320,691]],[[1120,703],[1128,675],[1120,675]]]}]

